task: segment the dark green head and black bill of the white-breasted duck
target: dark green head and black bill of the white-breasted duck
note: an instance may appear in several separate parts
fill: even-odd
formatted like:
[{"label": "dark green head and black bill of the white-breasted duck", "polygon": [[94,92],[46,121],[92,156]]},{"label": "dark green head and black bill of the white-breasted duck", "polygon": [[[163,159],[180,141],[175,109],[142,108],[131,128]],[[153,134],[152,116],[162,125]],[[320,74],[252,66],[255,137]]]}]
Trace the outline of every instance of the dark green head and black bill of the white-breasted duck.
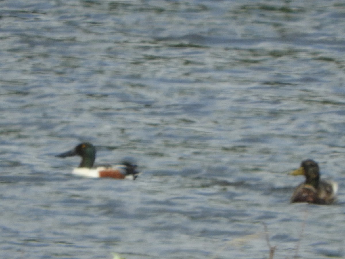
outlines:
[{"label": "dark green head and black bill of the white-breasted duck", "polygon": [[57,157],[81,156],[79,167],[91,168],[96,159],[96,148],[91,143],[83,142],[67,152],[57,155]]}]

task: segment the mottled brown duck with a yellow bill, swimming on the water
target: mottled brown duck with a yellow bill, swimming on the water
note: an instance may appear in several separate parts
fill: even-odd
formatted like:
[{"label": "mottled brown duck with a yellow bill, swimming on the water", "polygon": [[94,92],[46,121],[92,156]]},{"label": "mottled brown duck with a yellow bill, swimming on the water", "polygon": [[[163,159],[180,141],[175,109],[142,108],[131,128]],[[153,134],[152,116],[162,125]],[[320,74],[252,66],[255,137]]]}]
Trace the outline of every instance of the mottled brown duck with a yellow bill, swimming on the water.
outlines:
[{"label": "mottled brown duck with a yellow bill, swimming on the water", "polygon": [[320,180],[319,166],[314,160],[302,161],[299,169],[290,174],[305,176],[305,182],[297,186],[290,202],[331,204],[335,201],[338,184],[330,180]]}]

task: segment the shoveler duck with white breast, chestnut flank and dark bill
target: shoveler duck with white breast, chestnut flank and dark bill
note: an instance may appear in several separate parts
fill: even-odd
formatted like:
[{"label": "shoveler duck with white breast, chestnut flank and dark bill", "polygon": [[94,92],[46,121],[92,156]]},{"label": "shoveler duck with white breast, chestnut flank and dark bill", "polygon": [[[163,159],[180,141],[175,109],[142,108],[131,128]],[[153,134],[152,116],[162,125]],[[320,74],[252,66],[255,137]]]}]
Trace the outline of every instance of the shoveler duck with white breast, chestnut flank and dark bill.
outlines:
[{"label": "shoveler duck with white breast, chestnut flank and dark bill", "polygon": [[137,166],[130,164],[129,162],[124,162],[113,167],[101,166],[92,168],[96,159],[96,148],[88,142],[83,142],[72,150],[57,155],[57,157],[64,158],[76,155],[81,156],[81,163],[79,167],[73,169],[73,174],[94,178],[111,177],[116,179],[132,180],[135,180],[139,174],[139,172],[136,171]]}]

